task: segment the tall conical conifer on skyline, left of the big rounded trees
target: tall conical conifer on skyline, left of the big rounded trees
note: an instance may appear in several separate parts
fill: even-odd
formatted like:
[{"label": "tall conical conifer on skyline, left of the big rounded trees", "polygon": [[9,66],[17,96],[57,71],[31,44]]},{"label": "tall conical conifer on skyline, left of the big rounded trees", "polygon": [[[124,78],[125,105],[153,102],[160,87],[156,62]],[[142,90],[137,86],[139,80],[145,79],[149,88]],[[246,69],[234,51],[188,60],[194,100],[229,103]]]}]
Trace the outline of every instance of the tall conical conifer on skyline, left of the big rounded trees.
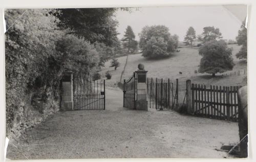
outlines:
[{"label": "tall conical conifer on skyline, left of the big rounded trees", "polygon": [[129,53],[134,53],[137,50],[138,42],[135,40],[135,35],[131,26],[127,26],[121,41],[123,41],[123,47],[127,49]]}]

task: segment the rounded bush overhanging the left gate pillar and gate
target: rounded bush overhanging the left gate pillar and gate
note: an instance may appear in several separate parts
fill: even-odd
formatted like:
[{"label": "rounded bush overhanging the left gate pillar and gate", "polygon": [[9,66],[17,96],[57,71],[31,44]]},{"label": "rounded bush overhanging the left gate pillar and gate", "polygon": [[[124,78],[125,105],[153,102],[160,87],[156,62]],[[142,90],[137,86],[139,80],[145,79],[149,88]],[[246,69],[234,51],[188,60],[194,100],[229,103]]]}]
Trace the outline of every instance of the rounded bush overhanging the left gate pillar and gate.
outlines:
[{"label": "rounded bush overhanging the left gate pillar and gate", "polygon": [[90,76],[99,64],[99,54],[93,44],[73,34],[63,35],[57,42],[56,50],[63,55],[66,71]]}]

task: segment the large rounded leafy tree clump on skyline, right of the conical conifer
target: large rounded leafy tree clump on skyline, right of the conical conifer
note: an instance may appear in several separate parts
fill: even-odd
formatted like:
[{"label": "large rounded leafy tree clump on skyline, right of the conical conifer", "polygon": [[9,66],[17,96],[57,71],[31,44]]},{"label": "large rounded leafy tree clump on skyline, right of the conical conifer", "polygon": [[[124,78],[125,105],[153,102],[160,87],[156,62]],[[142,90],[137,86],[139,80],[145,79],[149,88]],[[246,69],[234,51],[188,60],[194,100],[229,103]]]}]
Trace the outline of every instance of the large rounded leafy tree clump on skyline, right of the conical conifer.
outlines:
[{"label": "large rounded leafy tree clump on skyline, right of the conical conifer", "polygon": [[170,56],[178,48],[178,36],[171,36],[165,26],[145,26],[139,33],[139,47],[144,57]]}]

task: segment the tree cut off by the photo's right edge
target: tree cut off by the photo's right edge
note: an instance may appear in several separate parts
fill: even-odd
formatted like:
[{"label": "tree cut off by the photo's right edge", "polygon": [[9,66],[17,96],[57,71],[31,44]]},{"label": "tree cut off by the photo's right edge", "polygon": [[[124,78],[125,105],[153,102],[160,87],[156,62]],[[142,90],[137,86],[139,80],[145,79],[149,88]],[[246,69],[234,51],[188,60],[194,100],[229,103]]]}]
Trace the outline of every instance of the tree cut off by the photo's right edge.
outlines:
[{"label": "tree cut off by the photo's right edge", "polygon": [[238,31],[237,36],[238,45],[242,45],[240,51],[236,54],[239,59],[247,59],[247,29],[245,28],[245,20],[241,26],[241,29]]}]

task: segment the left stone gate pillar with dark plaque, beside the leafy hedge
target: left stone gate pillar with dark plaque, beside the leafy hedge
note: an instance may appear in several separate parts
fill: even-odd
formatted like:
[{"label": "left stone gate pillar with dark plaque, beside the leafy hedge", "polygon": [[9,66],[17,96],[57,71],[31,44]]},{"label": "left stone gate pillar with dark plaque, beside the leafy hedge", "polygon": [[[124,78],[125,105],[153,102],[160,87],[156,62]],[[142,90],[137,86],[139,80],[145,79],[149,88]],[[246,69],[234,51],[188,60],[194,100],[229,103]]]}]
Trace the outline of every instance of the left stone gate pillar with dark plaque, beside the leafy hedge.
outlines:
[{"label": "left stone gate pillar with dark plaque, beside the leafy hedge", "polygon": [[60,109],[64,111],[74,110],[73,102],[73,73],[65,72],[61,81],[61,103]]}]

